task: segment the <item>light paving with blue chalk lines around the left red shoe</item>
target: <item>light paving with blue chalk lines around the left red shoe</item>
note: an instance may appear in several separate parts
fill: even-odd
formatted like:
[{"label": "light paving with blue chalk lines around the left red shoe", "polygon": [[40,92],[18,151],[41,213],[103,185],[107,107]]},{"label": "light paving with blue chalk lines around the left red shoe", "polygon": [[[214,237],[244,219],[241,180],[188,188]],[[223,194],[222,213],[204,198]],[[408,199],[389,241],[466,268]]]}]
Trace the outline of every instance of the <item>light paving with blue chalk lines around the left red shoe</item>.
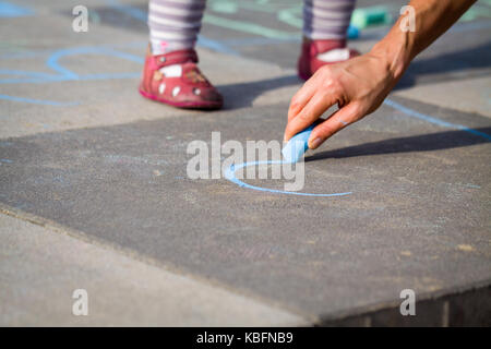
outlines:
[{"label": "light paving with blue chalk lines around the left red shoe", "polygon": [[[92,4],[100,7],[101,2]],[[91,24],[88,33],[74,33],[69,4],[51,3],[43,9],[43,15],[10,19],[10,25],[2,25],[0,61],[10,73],[0,76],[0,137],[193,113],[148,104],[137,94],[147,45],[140,32]],[[40,27],[47,38],[41,46],[35,35]],[[274,63],[247,58],[237,61],[201,48],[200,58],[211,81],[219,88],[227,86],[226,108],[251,106],[267,89],[295,85],[292,92],[300,86],[299,80],[285,79],[285,70]],[[254,93],[247,99],[237,98],[235,86],[248,83],[256,86]]]}]

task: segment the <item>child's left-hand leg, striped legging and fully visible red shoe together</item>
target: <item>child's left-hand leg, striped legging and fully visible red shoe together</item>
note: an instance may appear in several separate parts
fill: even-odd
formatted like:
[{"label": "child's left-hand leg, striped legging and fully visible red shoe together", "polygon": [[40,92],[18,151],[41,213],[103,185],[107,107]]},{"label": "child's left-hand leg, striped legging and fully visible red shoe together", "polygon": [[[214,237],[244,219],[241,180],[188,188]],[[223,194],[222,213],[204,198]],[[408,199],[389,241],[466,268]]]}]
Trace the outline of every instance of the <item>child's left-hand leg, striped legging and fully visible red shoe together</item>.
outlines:
[{"label": "child's left-hand leg, striped legging and fully visible red shoe together", "polygon": [[149,50],[140,93],[166,105],[217,109],[221,95],[197,69],[194,51],[206,0],[151,0]]}]

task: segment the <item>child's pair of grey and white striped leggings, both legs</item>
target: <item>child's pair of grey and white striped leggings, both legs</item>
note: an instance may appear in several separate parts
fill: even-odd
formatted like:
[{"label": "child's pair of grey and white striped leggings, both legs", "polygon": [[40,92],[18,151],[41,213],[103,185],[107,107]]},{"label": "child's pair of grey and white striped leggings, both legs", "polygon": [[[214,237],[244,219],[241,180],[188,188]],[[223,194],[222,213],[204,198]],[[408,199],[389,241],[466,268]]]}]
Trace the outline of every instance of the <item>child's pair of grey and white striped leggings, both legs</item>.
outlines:
[{"label": "child's pair of grey and white striped leggings, both legs", "polygon": [[[344,39],[356,0],[303,0],[303,35]],[[148,26],[155,55],[191,48],[206,0],[149,0]]]}]

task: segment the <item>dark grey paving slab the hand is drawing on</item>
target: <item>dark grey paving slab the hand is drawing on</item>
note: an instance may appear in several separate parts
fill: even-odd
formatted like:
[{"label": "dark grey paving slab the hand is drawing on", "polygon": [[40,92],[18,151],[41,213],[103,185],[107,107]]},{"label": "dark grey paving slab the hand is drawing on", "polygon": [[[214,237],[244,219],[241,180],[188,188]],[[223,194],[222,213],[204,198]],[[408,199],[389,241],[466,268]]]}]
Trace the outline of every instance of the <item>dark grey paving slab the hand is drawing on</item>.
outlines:
[{"label": "dark grey paving slab the hand is drawing on", "polygon": [[[488,118],[397,100],[490,133]],[[279,137],[284,112],[278,105],[7,139],[0,201],[306,316],[489,278],[490,143],[465,131],[383,107],[308,159],[303,191],[352,192],[346,197],[188,179],[191,141],[218,130],[224,142]]]}]

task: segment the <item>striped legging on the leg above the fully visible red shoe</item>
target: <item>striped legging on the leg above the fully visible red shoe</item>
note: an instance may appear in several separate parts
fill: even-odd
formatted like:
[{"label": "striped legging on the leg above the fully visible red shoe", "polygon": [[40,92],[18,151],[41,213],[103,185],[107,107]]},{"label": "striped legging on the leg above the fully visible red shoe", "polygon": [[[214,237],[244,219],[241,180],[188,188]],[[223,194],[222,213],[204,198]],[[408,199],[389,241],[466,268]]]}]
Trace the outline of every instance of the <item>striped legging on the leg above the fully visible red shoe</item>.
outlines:
[{"label": "striped legging on the leg above the fully visible red shoe", "polygon": [[151,0],[148,27],[152,53],[193,48],[205,5],[206,0]]}]

